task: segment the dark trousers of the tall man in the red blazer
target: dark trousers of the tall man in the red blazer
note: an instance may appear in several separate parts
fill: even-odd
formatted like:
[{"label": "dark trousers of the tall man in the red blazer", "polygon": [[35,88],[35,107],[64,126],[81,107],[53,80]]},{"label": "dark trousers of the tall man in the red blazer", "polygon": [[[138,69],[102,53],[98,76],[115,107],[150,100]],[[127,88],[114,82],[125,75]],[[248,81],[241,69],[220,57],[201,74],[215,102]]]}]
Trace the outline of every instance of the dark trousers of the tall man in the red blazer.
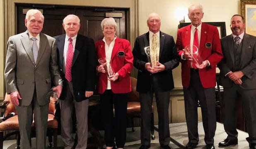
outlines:
[{"label": "dark trousers of the tall man in the red blazer", "polygon": [[183,88],[185,100],[186,123],[188,127],[188,140],[197,143],[198,137],[198,100],[201,105],[205,143],[213,144],[216,130],[215,89],[203,88],[198,70],[191,69],[190,85]]}]

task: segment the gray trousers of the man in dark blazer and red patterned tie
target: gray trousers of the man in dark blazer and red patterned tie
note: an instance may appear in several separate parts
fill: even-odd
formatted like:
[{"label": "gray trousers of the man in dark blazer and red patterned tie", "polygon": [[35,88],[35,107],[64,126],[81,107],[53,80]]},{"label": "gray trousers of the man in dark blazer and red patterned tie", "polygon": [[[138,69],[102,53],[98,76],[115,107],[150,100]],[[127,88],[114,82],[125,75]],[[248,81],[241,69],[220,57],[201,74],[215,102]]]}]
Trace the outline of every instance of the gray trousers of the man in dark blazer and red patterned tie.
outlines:
[{"label": "gray trousers of the man in dark blazer and red patterned tie", "polygon": [[61,137],[64,142],[64,149],[72,149],[74,145],[72,131],[72,112],[75,106],[75,115],[77,119],[77,145],[75,149],[86,149],[88,136],[88,103],[89,100],[76,102],[73,94],[71,82],[67,82],[67,96],[60,100],[60,121],[61,121]]}]

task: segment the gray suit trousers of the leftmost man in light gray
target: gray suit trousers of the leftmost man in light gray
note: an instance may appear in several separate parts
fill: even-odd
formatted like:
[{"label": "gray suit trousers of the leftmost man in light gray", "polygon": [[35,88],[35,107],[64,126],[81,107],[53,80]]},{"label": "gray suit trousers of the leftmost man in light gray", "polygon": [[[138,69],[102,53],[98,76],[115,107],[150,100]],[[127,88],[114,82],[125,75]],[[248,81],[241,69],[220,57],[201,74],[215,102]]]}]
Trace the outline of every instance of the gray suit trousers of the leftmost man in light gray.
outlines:
[{"label": "gray suit trousers of the leftmost man in light gray", "polygon": [[[24,99],[22,99],[24,100]],[[36,98],[36,90],[29,106],[15,106],[18,113],[21,149],[31,149],[31,123],[36,128],[36,149],[46,149],[47,119],[49,104],[40,106]]]}]

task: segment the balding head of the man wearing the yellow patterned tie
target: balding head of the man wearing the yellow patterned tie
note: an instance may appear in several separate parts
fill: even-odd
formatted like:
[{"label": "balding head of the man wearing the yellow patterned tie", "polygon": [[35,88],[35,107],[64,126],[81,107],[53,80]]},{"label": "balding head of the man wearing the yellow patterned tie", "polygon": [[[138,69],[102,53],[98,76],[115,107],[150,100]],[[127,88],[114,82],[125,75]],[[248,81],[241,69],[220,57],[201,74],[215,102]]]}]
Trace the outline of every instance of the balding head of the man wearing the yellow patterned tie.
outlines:
[{"label": "balding head of the man wearing the yellow patterned tie", "polygon": [[158,31],[160,31],[161,19],[159,14],[155,12],[149,14],[147,19],[147,26],[149,30],[153,33],[157,33]]}]

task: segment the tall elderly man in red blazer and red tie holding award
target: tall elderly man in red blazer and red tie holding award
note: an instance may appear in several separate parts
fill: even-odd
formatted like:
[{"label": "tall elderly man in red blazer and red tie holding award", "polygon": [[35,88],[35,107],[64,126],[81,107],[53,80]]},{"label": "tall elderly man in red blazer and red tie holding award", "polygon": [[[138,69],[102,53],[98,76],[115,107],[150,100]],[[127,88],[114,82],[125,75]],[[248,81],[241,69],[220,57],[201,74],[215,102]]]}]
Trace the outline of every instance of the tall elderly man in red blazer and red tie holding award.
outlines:
[{"label": "tall elderly man in red blazer and red tie holding award", "polygon": [[[201,105],[205,143],[207,149],[214,149],[216,130],[215,85],[216,65],[222,59],[220,36],[216,26],[201,22],[203,7],[188,7],[191,24],[178,30],[176,47],[181,57],[181,78],[184,91],[188,144],[186,149],[193,149],[198,137],[198,100]],[[201,64],[195,64],[185,47],[195,45],[198,48]],[[191,49],[193,51],[193,49]]]}]

